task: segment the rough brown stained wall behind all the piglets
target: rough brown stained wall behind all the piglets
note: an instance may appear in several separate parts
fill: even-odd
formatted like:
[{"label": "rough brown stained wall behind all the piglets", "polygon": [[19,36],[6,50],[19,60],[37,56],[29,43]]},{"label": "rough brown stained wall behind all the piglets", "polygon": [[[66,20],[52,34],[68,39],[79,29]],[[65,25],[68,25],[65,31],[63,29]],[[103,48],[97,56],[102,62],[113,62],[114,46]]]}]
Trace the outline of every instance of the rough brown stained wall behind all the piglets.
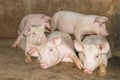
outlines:
[{"label": "rough brown stained wall behind all the piglets", "polygon": [[52,16],[60,10],[109,17],[108,39],[114,50],[120,47],[120,0],[0,0],[0,38],[16,38],[21,19],[31,13]]}]

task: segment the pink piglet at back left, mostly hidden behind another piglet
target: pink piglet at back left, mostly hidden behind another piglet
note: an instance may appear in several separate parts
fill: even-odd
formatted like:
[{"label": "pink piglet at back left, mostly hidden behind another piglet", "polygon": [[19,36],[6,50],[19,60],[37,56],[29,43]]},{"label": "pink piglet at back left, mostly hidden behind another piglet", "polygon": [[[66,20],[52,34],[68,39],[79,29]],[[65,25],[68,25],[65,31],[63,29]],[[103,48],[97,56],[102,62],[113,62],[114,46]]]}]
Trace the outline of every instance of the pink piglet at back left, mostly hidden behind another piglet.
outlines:
[{"label": "pink piglet at back left, mostly hidden behind another piglet", "polygon": [[[16,48],[17,45],[19,45],[20,40],[23,38],[24,32],[28,31],[31,27],[45,27],[46,32],[50,32],[50,25],[49,21],[51,18],[45,14],[29,14],[25,16],[20,25],[18,30],[18,37],[14,44],[12,45],[13,48]],[[44,26],[43,26],[44,25]]]}]

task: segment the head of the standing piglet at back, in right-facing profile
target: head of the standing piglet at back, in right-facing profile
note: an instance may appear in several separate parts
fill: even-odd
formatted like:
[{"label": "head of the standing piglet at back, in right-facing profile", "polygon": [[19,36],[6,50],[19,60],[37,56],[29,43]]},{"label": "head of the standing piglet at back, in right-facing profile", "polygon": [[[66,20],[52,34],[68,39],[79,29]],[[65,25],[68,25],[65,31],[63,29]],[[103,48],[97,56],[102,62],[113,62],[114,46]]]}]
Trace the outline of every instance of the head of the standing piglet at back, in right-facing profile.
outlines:
[{"label": "head of the standing piglet at back, in right-facing profile", "polygon": [[109,35],[106,29],[106,25],[105,25],[106,21],[108,21],[107,17],[104,17],[104,16],[96,17],[92,25],[94,32],[102,36]]}]

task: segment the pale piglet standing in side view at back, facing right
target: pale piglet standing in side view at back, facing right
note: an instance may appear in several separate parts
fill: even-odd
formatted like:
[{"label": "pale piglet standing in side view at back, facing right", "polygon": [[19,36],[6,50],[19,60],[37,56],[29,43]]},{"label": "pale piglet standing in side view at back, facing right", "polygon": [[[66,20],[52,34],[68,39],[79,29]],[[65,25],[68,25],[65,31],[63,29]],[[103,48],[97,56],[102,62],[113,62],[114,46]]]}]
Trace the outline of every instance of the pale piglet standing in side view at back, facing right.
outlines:
[{"label": "pale piglet standing in side view at back, facing right", "polygon": [[77,41],[81,41],[84,34],[99,34],[107,36],[105,16],[85,15],[72,11],[59,11],[51,19],[51,29],[74,34]]}]

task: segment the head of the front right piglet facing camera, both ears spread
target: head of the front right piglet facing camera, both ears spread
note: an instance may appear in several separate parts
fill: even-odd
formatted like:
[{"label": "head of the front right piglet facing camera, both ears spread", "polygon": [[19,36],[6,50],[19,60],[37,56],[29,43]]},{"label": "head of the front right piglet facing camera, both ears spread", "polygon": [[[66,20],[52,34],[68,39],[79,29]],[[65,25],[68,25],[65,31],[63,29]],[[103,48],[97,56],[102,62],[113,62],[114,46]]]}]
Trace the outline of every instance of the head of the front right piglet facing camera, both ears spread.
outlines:
[{"label": "head of the front right piglet facing camera, both ears spread", "polygon": [[74,41],[75,49],[79,52],[80,60],[84,65],[84,72],[92,74],[92,72],[100,65],[102,55],[106,55],[109,51],[108,42],[98,45],[88,45],[83,42]]}]

